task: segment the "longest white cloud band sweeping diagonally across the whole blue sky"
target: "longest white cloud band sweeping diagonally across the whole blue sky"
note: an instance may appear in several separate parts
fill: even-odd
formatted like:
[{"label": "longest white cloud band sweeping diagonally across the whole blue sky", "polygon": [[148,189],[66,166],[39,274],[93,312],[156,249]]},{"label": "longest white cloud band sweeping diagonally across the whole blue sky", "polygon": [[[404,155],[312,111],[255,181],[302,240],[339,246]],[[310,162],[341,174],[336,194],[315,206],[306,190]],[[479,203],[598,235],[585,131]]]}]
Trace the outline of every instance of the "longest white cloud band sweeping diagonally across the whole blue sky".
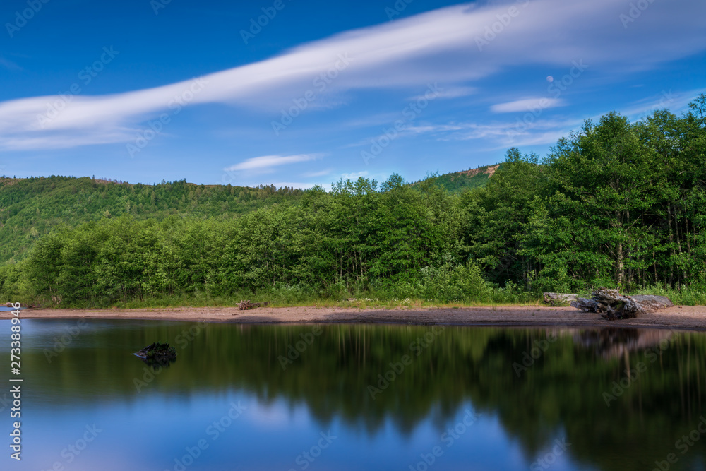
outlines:
[{"label": "longest white cloud band sweeping diagonally across the whole blue sky", "polygon": [[[478,38],[489,37],[489,28],[510,7],[519,13],[490,42],[477,47]],[[612,73],[620,73],[706,49],[706,2],[655,2],[624,28],[620,15],[628,9],[614,0],[463,4],[344,32],[270,59],[211,73],[199,79],[203,87],[198,93],[193,91],[195,82],[188,80],[114,95],[78,95],[56,112],[52,107],[65,98],[6,101],[0,103],[0,149],[127,142],[135,138],[138,124],[169,112],[179,100],[189,106],[226,103],[277,110],[332,68],[340,73],[323,95],[413,88],[433,81],[464,90],[461,87],[469,81],[513,66],[566,66],[581,59],[593,69],[611,66]],[[471,90],[466,88],[466,94]]]}]

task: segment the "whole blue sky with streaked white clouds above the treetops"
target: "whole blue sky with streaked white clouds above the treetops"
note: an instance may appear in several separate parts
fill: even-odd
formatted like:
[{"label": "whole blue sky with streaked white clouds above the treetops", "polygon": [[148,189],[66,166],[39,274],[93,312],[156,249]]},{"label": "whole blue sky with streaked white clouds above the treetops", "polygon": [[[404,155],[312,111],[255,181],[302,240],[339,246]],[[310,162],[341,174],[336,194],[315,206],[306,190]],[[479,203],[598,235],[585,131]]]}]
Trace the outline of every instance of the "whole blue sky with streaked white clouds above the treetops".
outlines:
[{"label": "whole blue sky with streaked white clouds above the treetops", "polygon": [[[0,173],[328,186],[706,92],[702,0],[5,0]],[[258,24],[259,23],[259,24]]]}]

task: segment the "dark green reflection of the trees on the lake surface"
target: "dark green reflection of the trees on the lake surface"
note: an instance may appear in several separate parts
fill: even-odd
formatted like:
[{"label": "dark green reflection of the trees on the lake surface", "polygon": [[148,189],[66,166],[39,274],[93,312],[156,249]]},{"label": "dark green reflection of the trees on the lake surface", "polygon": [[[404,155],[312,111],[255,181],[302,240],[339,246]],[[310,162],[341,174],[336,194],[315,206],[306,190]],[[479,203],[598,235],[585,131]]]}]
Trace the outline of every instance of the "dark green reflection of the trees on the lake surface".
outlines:
[{"label": "dark green reflection of the trees on the lake surface", "polygon": [[[199,335],[179,345],[184,324],[92,325],[51,364],[41,350],[24,355],[27,371],[42,378],[35,388],[40,394],[45,388],[52,407],[104,395],[138,400],[133,378],[144,365],[128,357],[153,339],[168,339],[179,350],[179,362],[157,376],[151,393],[248,390],[264,403],[305,403],[323,428],[342,419],[370,435],[388,420],[401,434],[411,434],[424,419],[441,430],[470,401],[481,414],[498,417],[527,457],[566,436],[571,458],[600,470],[652,469],[655,460],[676,452],[675,441],[705,413],[703,333],[448,327],[419,348],[415,342],[431,327],[325,325],[283,369],[278,358],[313,326],[202,324]],[[49,328],[42,335],[47,339],[36,345],[48,345],[55,334]],[[556,338],[541,357],[515,374],[513,363],[550,337]],[[368,386],[405,355],[411,362],[373,399]],[[626,384],[626,371],[640,363],[640,374],[614,394],[616,384]],[[609,405],[604,393],[615,397]],[[706,440],[696,443],[671,469],[703,463],[705,446]]]}]

